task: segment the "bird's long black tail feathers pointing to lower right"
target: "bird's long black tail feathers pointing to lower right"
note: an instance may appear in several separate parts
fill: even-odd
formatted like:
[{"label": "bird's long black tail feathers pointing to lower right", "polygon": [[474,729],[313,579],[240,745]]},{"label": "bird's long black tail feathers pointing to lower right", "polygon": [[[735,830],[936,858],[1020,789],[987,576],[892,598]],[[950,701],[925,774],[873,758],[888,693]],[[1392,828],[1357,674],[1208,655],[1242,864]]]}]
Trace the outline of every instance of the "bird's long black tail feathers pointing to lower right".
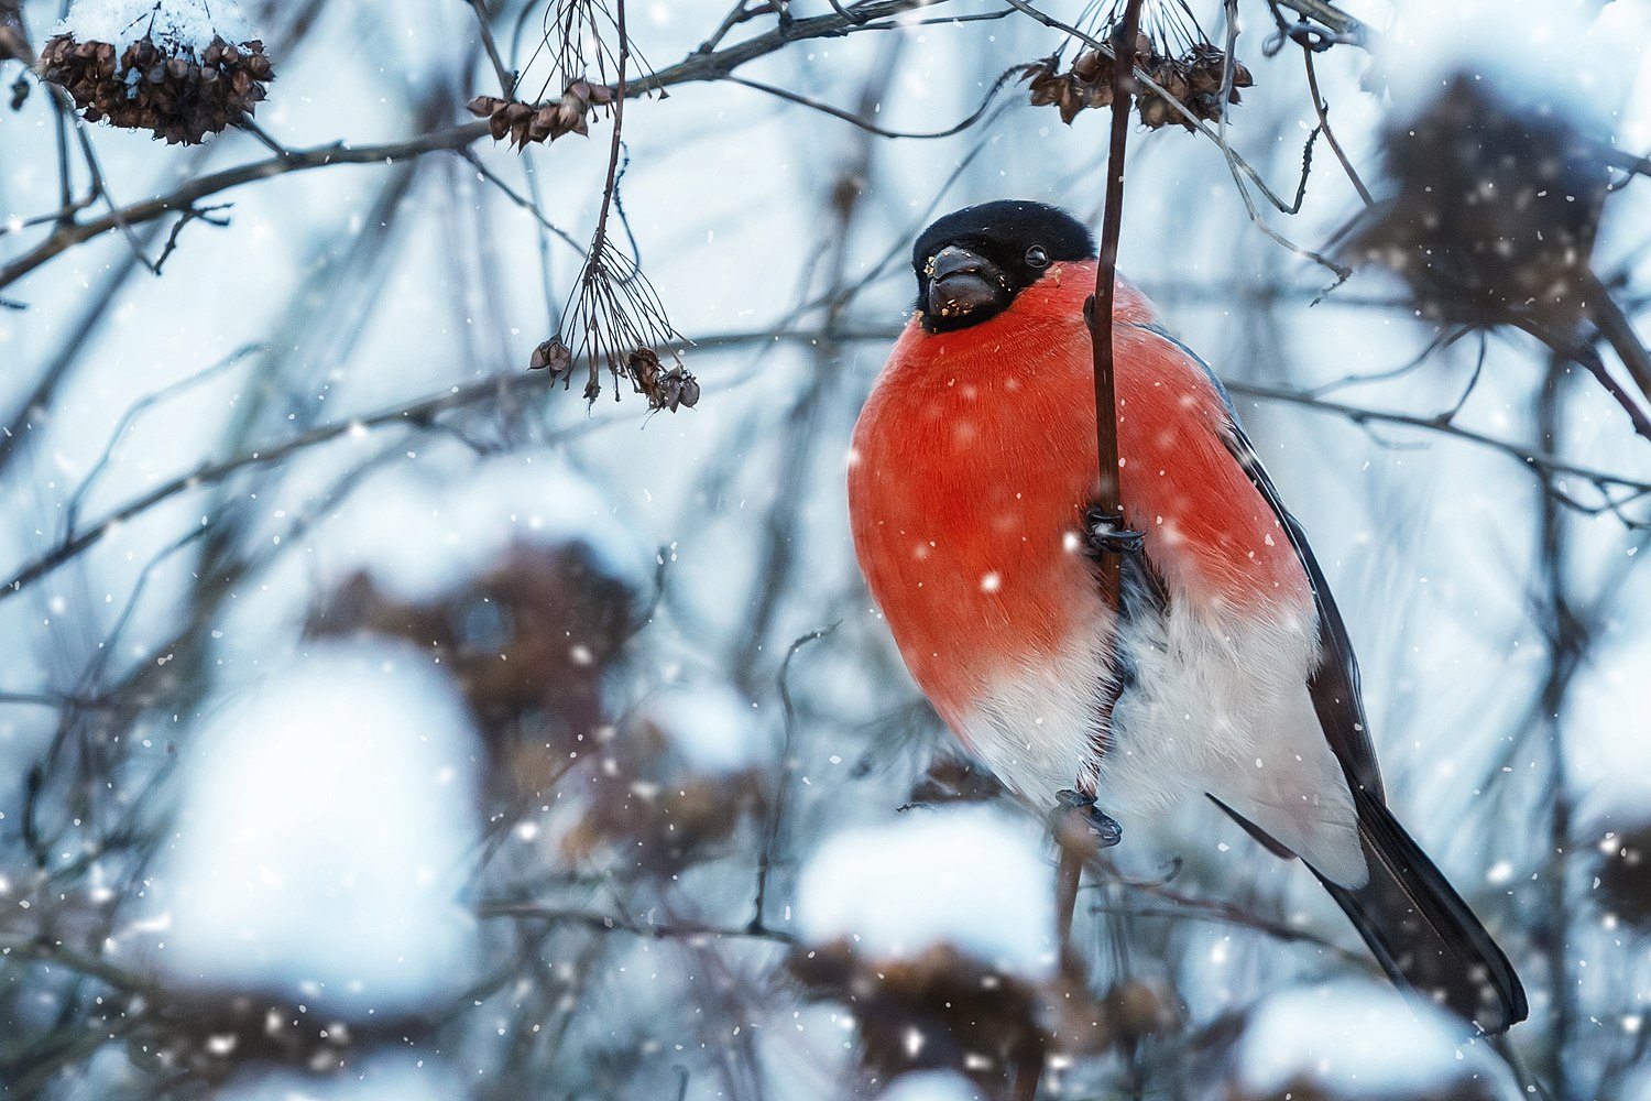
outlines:
[{"label": "bird's long black tail feathers pointing to lower right", "polygon": [[1354,806],[1370,880],[1357,890],[1322,875],[1319,881],[1382,969],[1486,1033],[1524,1020],[1529,1007],[1519,976],[1468,903],[1377,796],[1355,789]]}]

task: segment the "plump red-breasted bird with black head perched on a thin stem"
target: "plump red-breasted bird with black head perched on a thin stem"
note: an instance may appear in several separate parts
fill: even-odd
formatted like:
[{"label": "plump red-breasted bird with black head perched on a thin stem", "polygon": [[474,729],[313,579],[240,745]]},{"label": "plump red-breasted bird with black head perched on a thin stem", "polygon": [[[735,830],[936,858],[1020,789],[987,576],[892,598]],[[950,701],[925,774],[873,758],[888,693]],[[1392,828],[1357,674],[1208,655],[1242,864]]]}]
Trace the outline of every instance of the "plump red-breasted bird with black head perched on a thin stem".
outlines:
[{"label": "plump red-breasted bird with black head perched on a thin stem", "polygon": [[1119,543],[1088,517],[1090,233],[1053,206],[986,203],[930,226],[913,267],[916,312],[854,431],[849,510],[872,596],[953,733],[1043,809],[1078,787],[1128,822],[1209,796],[1304,860],[1395,982],[1484,1032],[1524,1020],[1507,957],[1387,809],[1324,573],[1209,366],[1118,281],[1119,489],[1144,538],[1114,616],[1096,560]]}]

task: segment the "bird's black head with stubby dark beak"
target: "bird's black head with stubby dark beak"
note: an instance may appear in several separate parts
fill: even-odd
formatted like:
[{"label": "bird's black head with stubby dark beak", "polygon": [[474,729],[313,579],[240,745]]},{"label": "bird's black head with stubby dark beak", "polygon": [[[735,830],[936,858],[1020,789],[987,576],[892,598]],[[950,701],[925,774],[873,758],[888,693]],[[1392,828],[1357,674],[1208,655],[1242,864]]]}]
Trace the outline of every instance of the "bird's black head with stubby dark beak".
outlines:
[{"label": "bird's black head with stubby dark beak", "polygon": [[918,238],[918,315],[930,332],[997,317],[1050,264],[1095,258],[1081,221],[1045,203],[1001,200],[946,215]]}]

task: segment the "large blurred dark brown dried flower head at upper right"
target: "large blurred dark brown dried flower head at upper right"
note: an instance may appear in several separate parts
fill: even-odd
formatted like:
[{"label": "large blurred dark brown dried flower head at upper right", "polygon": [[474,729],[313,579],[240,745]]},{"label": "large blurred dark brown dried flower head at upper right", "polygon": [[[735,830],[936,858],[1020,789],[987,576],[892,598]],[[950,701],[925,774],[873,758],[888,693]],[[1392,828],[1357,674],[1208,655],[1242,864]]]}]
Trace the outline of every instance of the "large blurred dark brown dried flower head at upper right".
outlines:
[{"label": "large blurred dark brown dried flower head at upper right", "polygon": [[1436,320],[1580,317],[1611,190],[1603,137],[1458,74],[1390,124],[1382,145],[1388,196],[1354,223],[1347,253],[1398,272]]}]

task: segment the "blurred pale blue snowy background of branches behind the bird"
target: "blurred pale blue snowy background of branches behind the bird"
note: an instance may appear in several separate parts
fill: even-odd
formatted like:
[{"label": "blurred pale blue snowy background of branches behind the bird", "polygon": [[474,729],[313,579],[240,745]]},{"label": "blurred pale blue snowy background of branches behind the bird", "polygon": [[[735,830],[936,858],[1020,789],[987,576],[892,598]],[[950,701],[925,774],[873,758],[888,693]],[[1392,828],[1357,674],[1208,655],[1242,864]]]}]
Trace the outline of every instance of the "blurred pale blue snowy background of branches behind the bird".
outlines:
[{"label": "blurred pale blue snowy background of branches behind the bird", "polygon": [[[1301,211],[1247,182],[1251,216],[1218,144],[1138,130],[1121,267],[1233,386],[1390,801],[1532,1020],[1466,1042],[1199,810],[1116,850],[1060,966],[1052,852],[900,667],[844,470],[915,233],[1002,196],[1096,223],[1105,119],[992,92],[1065,40],[1019,5],[845,7],[888,18],[794,0],[788,28],[855,33],[783,43],[766,5],[627,5],[650,69],[715,78],[622,122],[613,246],[685,337],[677,413],[525,370],[611,120],[517,152],[464,104],[500,91],[479,12],[543,97],[545,0],[243,5],[264,137],[365,163],[76,132],[0,51],[0,1096],[939,1101],[1047,1043],[1063,1098],[1651,1098],[1646,441],[1530,337],[1374,269],[1322,294],[1271,236],[1324,249],[1362,208],[1322,139]],[[1369,48],[1313,66],[1372,188],[1384,125],[1459,68],[1651,149],[1643,3],[1346,10]],[[0,0],[0,31],[40,50],[63,13]],[[1237,17],[1227,137],[1288,200],[1304,50]],[[769,46],[748,83],[713,35]],[[933,139],[816,109],[930,134],[982,101]],[[64,236],[92,157],[109,231]],[[1634,315],[1651,182],[1616,182],[1593,267]]]}]

